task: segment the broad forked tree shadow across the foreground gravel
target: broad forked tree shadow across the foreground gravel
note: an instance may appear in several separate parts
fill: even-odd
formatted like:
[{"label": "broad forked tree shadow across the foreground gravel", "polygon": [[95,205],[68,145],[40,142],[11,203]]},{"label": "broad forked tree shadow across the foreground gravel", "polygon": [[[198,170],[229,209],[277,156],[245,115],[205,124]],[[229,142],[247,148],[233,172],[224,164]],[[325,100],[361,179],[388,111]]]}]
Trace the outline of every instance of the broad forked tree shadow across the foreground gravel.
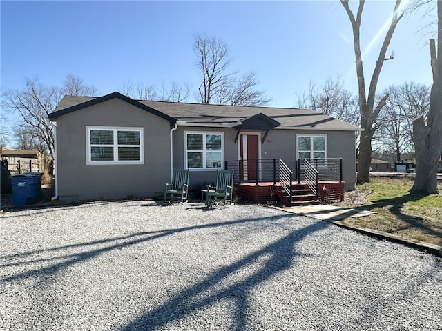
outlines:
[{"label": "broad forked tree shadow across the foreground gravel", "polygon": [[[285,217],[285,216],[282,216]],[[259,220],[250,220],[253,222]],[[242,222],[249,222],[244,220]],[[241,221],[238,223],[242,223]],[[247,316],[249,294],[267,279],[275,277],[278,272],[291,268],[294,264],[296,254],[296,243],[318,230],[323,230],[329,225],[327,222],[318,221],[302,230],[296,230],[287,234],[282,239],[267,245],[261,250],[249,254],[240,261],[224,268],[220,268],[206,277],[204,281],[195,284],[193,287],[183,290],[169,301],[147,312],[140,319],[133,321],[122,328],[122,331],[155,330],[173,321],[184,319],[193,312],[208,307],[213,303],[233,301],[235,305],[235,316],[233,317],[233,330],[247,330]],[[227,286],[223,290],[215,290],[222,287],[222,283],[233,274],[240,272],[242,268],[257,263],[258,260],[270,256],[267,262],[246,279]],[[209,295],[204,295],[205,293]],[[212,293],[212,294],[210,294]]]}]

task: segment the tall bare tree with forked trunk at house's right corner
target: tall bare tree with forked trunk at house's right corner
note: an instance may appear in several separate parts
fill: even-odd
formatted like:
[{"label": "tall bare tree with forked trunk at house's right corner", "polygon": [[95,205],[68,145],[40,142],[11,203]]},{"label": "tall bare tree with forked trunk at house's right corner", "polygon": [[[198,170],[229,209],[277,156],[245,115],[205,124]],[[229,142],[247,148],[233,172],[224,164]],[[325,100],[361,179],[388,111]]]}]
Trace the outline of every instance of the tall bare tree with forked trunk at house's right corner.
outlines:
[{"label": "tall bare tree with forked trunk at house's right corner", "polygon": [[[381,74],[381,69],[385,61],[385,53],[390,45],[394,30],[396,29],[398,21],[403,17],[403,12],[399,12],[401,6],[401,0],[396,0],[394,4],[394,10],[392,13],[392,18],[390,21],[390,26],[385,34],[381,50],[379,50],[378,59],[376,61],[376,66],[372,74],[372,79],[369,83],[368,94],[365,88],[365,73],[363,69],[362,52],[361,52],[361,18],[364,8],[365,1],[360,0],[358,10],[356,12],[356,17],[352,10],[349,8],[349,0],[340,0],[340,3],[345,8],[350,22],[352,23],[353,30],[353,46],[354,46],[354,56],[356,59],[356,75],[358,78],[358,98],[359,98],[359,111],[361,112],[361,132],[360,137],[360,150],[358,157],[358,175],[356,182],[358,184],[369,182],[369,168],[372,157],[372,138],[376,127],[374,126],[374,121],[378,117],[379,112],[381,112],[385,102],[387,101],[388,94],[385,94],[381,99],[376,102],[376,87],[378,85],[379,75]],[[390,59],[390,58],[389,58]]]}]

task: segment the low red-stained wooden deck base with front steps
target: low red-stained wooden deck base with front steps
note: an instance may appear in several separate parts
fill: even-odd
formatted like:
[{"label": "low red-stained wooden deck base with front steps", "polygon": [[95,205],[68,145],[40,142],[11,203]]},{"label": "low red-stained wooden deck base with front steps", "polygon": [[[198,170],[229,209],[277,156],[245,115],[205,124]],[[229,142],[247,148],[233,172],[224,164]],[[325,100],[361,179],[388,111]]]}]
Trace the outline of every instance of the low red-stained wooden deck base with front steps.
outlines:
[{"label": "low red-stained wooden deck base with front steps", "polygon": [[[238,183],[233,185],[236,194],[244,200],[253,201],[253,203],[274,203],[276,201],[287,204],[282,198],[282,185],[273,185],[273,182],[260,183]],[[312,199],[311,191],[305,182],[294,182],[292,185],[293,199],[296,202],[308,203]],[[318,181],[318,199],[325,203],[327,201],[343,201],[344,183],[338,181]]]}]

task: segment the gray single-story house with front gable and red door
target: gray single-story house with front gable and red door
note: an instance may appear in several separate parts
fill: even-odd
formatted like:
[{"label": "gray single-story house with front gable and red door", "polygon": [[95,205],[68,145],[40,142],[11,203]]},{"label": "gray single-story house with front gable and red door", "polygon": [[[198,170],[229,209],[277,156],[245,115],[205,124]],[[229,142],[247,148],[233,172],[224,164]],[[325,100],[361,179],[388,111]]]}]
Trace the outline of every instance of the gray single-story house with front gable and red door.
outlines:
[{"label": "gray single-story house with front gable and red door", "polygon": [[[153,197],[173,168],[189,169],[189,188],[198,189],[215,181],[216,170],[252,159],[282,160],[296,172],[298,159],[338,158],[345,190],[356,181],[361,129],[314,110],[140,101],[113,92],[65,96],[49,118],[57,127],[61,201]],[[253,164],[257,172],[269,168]],[[242,163],[237,170],[242,181],[263,178]]]}]

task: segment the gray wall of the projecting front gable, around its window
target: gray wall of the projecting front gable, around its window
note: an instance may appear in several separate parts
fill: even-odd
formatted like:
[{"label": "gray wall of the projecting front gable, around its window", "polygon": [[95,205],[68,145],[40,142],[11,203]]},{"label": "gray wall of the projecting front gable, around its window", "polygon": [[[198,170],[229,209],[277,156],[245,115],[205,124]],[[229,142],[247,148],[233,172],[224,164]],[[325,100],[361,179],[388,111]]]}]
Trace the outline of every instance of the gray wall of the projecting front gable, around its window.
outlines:
[{"label": "gray wall of the projecting front gable, around its window", "polygon": [[[86,126],[143,128],[144,164],[86,164]],[[170,123],[119,99],[57,119],[61,201],[152,197],[170,180]]]}]

